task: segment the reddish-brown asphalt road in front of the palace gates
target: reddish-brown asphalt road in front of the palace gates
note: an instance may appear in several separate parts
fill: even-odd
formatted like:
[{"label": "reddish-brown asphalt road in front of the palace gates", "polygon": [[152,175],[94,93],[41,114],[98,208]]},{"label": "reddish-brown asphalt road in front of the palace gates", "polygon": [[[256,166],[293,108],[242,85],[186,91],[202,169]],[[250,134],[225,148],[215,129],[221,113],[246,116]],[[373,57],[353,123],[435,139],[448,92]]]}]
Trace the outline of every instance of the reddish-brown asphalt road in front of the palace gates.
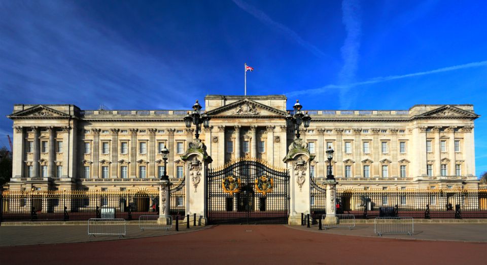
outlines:
[{"label": "reddish-brown asphalt road in front of the palace gates", "polygon": [[1,264],[485,264],[487,243],[313,233],[284,225],[89,243],[0,247]]}]

